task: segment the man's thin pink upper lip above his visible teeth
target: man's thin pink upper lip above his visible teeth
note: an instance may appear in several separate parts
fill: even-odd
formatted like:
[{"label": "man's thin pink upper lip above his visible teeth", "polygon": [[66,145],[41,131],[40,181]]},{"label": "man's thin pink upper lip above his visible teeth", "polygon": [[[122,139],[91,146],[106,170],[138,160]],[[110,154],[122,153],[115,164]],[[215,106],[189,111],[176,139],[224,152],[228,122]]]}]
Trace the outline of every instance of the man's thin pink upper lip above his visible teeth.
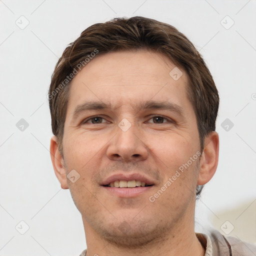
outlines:
[{"label": "man's thin pink upper lip above his visible teeth", "polygon": [[145,175],[141,175],[139,173],[115,173],[106,179],[104,179],[101,183],[101,185],[108,185],[109,183],[115,181],[115,180],[140,180],[145,182],[147,185],[153,185],[154,181],[152,178],[147,177]]}]

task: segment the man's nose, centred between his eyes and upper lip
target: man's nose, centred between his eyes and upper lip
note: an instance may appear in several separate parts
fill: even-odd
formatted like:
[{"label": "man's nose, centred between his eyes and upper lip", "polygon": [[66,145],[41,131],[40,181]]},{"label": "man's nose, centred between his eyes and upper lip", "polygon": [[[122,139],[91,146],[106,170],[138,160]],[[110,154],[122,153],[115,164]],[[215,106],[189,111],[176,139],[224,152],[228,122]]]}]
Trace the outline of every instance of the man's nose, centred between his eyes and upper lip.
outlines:
[{"label": "man's nose, centred between his eyes and upper lip", "polygon": [[138,125],[125,119],[124,122],[119,122],[115,132],[106,150],[109,159],[128,162],[147,158],[148,147]]}]

